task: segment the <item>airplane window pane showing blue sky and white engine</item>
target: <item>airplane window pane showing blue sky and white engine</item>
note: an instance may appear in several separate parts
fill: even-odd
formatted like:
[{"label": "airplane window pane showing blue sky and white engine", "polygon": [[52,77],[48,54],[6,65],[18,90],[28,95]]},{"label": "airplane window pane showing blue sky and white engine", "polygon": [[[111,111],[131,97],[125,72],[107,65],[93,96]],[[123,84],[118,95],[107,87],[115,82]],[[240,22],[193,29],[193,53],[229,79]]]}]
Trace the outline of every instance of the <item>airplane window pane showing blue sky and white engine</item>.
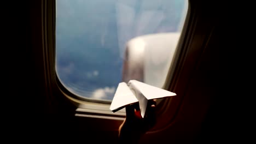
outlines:
[{"label": "airplane window pane showing blue sky and white engine", "polygon": [[185,0],[57,0],[59,80],[96,100],[128,79],[162,87],[187,9]]}]

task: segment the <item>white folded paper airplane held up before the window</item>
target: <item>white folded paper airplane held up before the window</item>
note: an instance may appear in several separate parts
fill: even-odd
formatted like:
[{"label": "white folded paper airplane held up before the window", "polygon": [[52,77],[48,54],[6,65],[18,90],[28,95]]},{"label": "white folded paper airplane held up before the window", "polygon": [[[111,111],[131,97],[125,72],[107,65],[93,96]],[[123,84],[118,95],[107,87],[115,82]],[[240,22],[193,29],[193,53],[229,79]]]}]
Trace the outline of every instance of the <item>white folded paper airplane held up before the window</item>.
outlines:
[{"label": "white folded paper airplane held up before the window", "polygon": [[144,117],[148,100],[171,97],[174,95],[176,95],[176,93],[136,80],[130,80],[127,84],[120,82],[109,109],[116,112],[129,104],[138,102],[141,116]]}]

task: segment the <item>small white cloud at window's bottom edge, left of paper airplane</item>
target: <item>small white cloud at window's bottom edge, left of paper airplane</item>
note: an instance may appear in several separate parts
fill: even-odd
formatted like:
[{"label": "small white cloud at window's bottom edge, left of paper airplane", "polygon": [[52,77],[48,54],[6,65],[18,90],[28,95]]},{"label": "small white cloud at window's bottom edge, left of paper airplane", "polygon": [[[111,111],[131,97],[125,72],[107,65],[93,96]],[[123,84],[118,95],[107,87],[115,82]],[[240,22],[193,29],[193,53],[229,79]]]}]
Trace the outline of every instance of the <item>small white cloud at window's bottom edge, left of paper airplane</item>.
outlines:
[{"label": "small white cloud at window's bottom edge, left of paper airplane", "polygon": [[107,99],[109,97],[113,97],[114,93],[115,93],[115,87],[98,88],[94,92],[92,92],[91,98]]}]

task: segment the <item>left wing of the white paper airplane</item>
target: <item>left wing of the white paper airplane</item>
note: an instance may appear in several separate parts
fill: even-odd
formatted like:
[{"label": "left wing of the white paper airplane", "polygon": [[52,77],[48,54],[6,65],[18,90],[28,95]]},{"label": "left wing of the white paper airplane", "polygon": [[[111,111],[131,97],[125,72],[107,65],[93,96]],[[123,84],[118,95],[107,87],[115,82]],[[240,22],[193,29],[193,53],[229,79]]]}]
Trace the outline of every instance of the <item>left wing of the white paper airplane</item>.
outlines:
[{"label": "left wing of the white paper airplane", "polygon": [[116,112],[120,109],[123,109],[126,105],[136,102],[138,102],[138,99],[132,93],[130,88],[126,85],[125,82],[121,82],[118,85],[117,91],[115,92],[109,109],[113,112]]}]

